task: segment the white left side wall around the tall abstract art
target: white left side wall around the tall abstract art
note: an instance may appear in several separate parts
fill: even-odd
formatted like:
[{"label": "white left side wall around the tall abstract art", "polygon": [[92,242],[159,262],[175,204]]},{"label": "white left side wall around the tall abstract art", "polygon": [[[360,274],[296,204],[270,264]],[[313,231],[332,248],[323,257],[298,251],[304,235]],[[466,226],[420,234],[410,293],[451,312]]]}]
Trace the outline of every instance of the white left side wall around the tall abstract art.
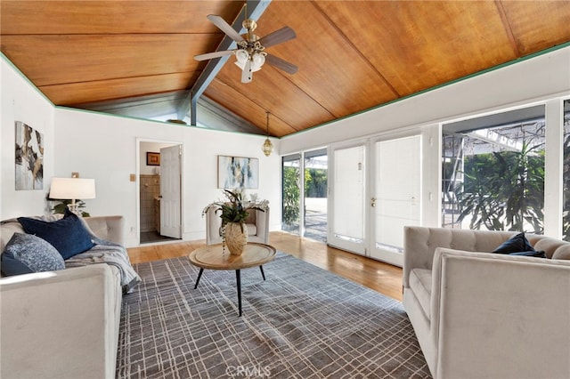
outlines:
[{"label": "white left side wall around the tall abstract art", "polygon": [[[0,59],[0,220],[47,212],[46,194],[53,176],[53,105],[12,63]],[[16,190],[15,121],[44,134],[44,189]]]}]

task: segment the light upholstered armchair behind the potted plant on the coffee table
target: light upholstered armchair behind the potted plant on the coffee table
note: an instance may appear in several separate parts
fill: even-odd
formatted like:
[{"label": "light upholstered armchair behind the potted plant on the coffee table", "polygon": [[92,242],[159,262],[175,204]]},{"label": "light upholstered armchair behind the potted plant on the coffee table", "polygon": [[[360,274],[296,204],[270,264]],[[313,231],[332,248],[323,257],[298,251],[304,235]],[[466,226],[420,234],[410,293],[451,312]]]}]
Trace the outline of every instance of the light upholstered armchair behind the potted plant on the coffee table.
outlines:
[{"label": "light upholstered armchair behind the potted plant on the coffee table", "polygon": [[[206,244],[214,245],[222,243],[221,228],[222,219],[216,214],[216,206],[210,206],[206,211]],[[248,209],[248,242],[269,243],[269,206],[265,211]]]}]

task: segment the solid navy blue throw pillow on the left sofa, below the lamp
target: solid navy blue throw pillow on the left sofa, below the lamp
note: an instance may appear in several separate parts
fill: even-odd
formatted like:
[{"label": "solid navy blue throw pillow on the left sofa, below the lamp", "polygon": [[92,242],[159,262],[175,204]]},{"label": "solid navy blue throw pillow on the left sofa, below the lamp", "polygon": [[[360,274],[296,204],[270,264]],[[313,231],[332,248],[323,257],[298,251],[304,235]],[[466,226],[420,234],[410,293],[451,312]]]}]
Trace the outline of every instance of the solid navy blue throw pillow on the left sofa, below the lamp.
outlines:
[{"label": "solid navy blue throw pillow on the left sofa, below the lamp", "polygon": [[18,221],[28,234],[44,238],[60,252],[63,259],[83,253],[94,246],[91,235],[76,214],[66,213],[61,220],[45,222],[19,217]]}]

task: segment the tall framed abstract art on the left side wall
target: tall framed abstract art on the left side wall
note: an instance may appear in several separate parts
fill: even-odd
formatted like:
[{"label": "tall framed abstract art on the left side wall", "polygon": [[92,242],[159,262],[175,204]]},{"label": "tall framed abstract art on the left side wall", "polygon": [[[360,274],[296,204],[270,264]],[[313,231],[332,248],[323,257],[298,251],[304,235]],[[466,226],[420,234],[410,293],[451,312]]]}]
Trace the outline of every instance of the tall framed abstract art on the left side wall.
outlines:
[{"label": "tall framed abstract art on the left side wall", "polygon": [[16,190],[44,189],[44,134],[21,121],[16,126]]}]

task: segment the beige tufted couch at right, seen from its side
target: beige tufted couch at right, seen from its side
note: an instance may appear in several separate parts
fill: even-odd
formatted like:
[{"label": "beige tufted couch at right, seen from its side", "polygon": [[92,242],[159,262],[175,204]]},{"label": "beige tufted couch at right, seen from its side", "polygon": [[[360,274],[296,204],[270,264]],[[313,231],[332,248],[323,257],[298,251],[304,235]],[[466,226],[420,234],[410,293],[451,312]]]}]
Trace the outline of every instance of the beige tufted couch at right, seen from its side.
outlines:
[{"label": "beige tufted couch at right, seen from its side", "polygon": [[570,377],[570,243],[489,253],[515,234],[405,228],[403,306],[434,377]]}]

